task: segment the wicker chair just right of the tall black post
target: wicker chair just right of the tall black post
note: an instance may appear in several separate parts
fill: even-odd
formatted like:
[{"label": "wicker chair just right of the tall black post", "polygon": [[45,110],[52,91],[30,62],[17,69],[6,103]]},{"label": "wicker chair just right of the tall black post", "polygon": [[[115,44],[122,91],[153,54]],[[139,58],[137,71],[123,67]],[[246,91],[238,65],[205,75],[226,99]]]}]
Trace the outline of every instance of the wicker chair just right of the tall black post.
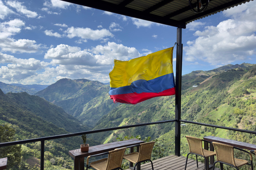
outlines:
[{"label": "wicker chair just right of the tall black post", "polygon": [[204,158],[204,161],[205,161],[205,169],[208,170],[209,169],[209,160],[208,160],[208,158],[210,156],[216,155],[216,153],[213,152],[213,151],[203,149],[203,142],[202,141],[208,142],[208,143],[211,143],[211,142],[203,140],[203,139],[195,138],[195,137],[190,137],[190,136],[187,136],[187,135],[185,137],[188,140],[188,146],[189,146],[189,153],[188,153],[187,159],[186,159],[185,170],[187,168],[189,154],[196,155],[196,165],[197,165],[197,167],[198,167],[197,156],[202,156]]}]

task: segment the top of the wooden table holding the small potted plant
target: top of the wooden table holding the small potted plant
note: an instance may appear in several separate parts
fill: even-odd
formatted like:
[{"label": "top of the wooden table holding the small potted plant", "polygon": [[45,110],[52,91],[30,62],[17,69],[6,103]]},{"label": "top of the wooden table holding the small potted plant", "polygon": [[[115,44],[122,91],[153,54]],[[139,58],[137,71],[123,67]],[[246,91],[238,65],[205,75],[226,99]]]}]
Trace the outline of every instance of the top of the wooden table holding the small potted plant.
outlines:
[{"label": "top of the wooden table holding the small potted plant", "polygon": [[87,157],[90,155],[96,155],[96,154],[101,154],[103,152],[108,152],[116,148],[123,148],[123,147],[138,145],[140,143],[144,143],[144,141],[139,139],[123,140],[123,141],[106,143],[102,145],[89,147],[88,152],[81,152],[81,149],[69,150],[69,155],[73,158]]}]

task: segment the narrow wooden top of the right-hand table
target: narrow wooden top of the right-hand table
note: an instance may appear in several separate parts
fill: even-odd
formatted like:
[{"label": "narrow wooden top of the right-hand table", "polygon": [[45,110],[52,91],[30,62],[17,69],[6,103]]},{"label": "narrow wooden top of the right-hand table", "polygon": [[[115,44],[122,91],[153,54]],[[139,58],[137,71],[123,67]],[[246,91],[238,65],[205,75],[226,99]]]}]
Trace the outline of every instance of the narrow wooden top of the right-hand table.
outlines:
[{"label": "narrow wooden top of the right-hand table", "polygon": [[204,137],[204,140],[207,140],[210,142],[220,142],[220,143],[224,143],[226,145],[231,145],[231,146],[241,148],[241,149],[256,150],[256,145],[254,145],[254,144],[240,142],[240,141],[231,140],[231,139],[207,136],[207,137]]}]

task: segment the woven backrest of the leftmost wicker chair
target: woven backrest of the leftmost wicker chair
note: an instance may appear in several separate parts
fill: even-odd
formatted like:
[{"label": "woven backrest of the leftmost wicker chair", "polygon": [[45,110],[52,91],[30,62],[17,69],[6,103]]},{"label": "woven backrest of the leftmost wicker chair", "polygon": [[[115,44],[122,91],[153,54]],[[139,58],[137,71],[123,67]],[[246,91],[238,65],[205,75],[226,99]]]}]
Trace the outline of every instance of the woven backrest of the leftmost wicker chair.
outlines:
[{"label": "woven backrest of the leftmost wicker chair", "polygon": [[124,152],[126,148],[115,149],[109,151],[108,163],[106,170],[111,170],[120,167],[122,165],[122,160],[124,157]]}]

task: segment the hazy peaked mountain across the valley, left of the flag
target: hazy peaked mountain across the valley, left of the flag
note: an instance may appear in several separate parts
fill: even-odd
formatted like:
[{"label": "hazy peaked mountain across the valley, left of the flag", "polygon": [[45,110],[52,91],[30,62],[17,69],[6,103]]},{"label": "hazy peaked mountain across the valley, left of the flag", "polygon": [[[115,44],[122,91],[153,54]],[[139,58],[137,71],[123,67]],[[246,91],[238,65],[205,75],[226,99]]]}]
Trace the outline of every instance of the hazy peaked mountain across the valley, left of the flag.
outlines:
[{"label": "hazy peaked mountain across the valley, left of the flag", "polygon": [[108,91],[109,86],[98,81],[61,79],[36,95],[62,107],[84,124],[94,126],[117,106],[110,100]]}]

